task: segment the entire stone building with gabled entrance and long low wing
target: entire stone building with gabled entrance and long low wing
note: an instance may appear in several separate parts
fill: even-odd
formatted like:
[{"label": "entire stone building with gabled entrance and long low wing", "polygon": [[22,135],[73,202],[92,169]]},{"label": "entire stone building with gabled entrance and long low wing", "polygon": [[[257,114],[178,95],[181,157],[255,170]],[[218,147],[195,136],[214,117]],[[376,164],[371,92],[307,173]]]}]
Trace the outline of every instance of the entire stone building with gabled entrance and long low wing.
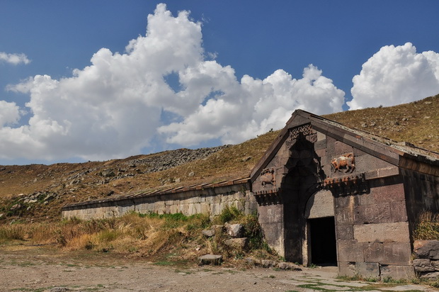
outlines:
[{"label": "entire stone building with gabled entrance and long low wing", "polygon": [[339,274],[415,276],[419,213],[439,212],[439,154],[297,110],[250,176],[63,208],[64,218],[258,211],[268,245],[290,262]]}]

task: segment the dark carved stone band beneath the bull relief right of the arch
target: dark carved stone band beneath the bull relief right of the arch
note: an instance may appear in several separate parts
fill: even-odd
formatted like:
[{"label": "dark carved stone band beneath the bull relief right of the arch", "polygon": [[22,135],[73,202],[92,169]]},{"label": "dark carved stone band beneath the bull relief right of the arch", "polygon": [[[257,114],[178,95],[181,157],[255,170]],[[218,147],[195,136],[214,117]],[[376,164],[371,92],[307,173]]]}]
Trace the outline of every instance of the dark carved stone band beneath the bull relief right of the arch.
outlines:
[{"label": "dark carved stone band beneath the bull relief right of the arch", "polygon": [[367,193],[370,190],[365,174],[343,176],[335,179],[327,178],[321,184],[322,189],[331,190],[334,196]]}]

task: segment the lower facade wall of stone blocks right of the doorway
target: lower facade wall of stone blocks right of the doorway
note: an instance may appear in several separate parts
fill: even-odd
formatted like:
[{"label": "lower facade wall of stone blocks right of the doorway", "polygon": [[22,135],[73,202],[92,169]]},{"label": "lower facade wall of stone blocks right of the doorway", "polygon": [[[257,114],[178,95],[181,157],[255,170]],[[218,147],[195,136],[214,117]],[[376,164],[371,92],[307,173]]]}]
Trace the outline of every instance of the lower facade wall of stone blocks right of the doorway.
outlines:
[{"label": "lower facade wall of stone blocks right of the doorway", "polygon": [[370,190],[365,193],[336,196],[339,273],[375,279],[413,278],[401,176],[384,176],[367,183]]}]

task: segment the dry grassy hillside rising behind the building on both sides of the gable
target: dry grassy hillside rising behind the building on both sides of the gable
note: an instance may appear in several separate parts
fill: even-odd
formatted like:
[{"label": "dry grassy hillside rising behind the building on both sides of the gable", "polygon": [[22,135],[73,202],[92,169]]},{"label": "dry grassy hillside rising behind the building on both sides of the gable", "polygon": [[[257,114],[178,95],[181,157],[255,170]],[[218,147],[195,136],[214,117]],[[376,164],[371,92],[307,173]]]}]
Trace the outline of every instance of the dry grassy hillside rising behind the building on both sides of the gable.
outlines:
[{"label": "dry grassy hillside rising behind the building on both sides of the gable", "polygon": [[[439,95],[400,106],[365,108],[324,117],[349,128],[439,152]],[[278,133],[272,131],[176,167],[164,167],[165,170],[154,167],[154,172],[151,172],[152,162],[166,162],[166,157],[175,157],[175,152],[137,155],[107,162],[0,166],[0,224],[18,219],[58,220],[60,208],[67,203],[170,185],[248,176]],[[182,153],[183,156],[190,155],[190,150]]]}]

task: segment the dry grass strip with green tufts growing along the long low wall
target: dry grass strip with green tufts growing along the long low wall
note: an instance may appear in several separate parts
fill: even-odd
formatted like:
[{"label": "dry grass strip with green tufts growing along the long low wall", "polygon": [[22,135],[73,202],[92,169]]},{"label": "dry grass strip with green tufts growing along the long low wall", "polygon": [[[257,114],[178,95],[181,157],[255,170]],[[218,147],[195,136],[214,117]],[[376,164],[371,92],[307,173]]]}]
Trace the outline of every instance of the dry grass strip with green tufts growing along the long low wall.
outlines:
[{"label": "dry grass strip with green tufts growing along the long low wall", "polygon": [[[217,232],[207,238],[202,230],[213,223],[239,222],[244,225],[249,245],[245,249],[228,247],[230,237]],[[244,215],[236,208],[227,208],[211,221],[207,215],[180,214],[140,215],[129,213],[120,218],[100,220],[64,220],[57,223],[33,223],[0,226],[2,245],[53,245],[60,250],[113,252],[128,257],[173,260],[195,260],[201,254],[222,254],[224,259],[239,259],[246,254],[276,258],[263,242],[261,227],[255,215]],[[168,261],[169,259],[165,260]]]}]

